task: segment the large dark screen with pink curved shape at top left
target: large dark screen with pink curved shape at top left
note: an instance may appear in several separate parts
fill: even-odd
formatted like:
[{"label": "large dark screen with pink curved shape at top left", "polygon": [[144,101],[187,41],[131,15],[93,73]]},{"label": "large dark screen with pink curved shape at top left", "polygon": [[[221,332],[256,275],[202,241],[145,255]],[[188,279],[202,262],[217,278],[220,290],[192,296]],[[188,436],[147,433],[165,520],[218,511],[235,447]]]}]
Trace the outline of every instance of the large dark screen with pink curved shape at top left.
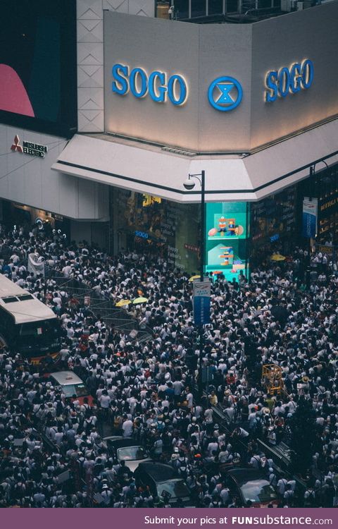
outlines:
[{"label": "large dark screen with pink curved shape at top left", "polygon": [[75,0],[3,0],[0,121],[71,135],[77,126]]}]

